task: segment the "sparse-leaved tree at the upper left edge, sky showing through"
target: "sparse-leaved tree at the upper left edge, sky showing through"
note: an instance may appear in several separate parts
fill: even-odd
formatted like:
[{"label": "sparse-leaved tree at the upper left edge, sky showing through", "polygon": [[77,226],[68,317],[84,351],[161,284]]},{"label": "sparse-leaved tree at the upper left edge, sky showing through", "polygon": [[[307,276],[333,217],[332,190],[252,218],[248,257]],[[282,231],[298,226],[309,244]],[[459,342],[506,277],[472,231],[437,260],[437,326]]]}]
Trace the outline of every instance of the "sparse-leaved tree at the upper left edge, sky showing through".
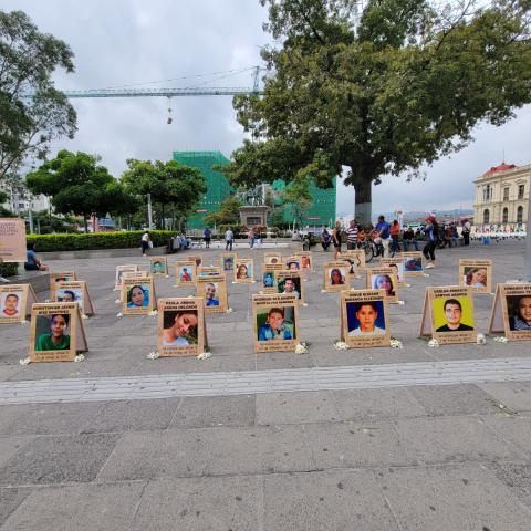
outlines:
[{"label": "sparse-leaved tree at the upper left edge, sky showing through", "polygon": [[56,69],[74,71],[72,58],[22,11],[0,11],[0,180],[24,158],[44,158],[50,140],[73,138],[75,111],[52,81]]}]

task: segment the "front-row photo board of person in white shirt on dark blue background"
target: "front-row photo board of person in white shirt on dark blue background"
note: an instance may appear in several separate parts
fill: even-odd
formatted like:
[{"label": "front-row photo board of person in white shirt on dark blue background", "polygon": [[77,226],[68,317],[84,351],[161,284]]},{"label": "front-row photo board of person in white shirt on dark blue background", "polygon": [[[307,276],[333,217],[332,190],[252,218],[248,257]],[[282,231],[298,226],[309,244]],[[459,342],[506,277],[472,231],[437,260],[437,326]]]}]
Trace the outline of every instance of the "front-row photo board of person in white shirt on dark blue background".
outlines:
[{"label": "front-row photo board of person in white shirt on dark blue background", "polygon": [[341,292],[341,339],[352,348],[391,345],[384,290]]}]

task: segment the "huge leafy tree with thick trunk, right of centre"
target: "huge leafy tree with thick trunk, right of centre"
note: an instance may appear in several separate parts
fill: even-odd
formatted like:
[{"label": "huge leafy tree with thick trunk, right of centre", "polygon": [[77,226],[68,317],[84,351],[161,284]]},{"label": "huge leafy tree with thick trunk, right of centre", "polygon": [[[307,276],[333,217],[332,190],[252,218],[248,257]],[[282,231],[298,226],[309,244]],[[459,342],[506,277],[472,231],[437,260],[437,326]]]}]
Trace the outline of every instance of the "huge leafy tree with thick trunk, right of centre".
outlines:
[{"label": "huge leafy tree with thick trunk, right of centre", "polygon": [[531,101],[529,0],[260,0],[278,48],[262,51],[263,96],[236,96],[253,140],[220,168],[233,186],[348,173],[356,218],[372,184],[419,176],[461,149],[481,121],[501,125]]}]

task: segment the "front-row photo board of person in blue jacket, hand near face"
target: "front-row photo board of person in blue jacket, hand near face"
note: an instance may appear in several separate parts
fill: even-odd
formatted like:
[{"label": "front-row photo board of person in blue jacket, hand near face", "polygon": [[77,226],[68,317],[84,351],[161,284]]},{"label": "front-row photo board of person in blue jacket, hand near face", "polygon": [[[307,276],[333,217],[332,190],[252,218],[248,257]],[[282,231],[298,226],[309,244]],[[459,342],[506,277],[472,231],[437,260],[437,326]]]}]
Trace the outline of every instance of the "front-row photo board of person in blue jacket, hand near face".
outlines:
[{"label": "front-row photo board of person in blue jacket, hand near face", "polygon": [[299,343],[298,311],[295,295],[252,295],[254,353],[294,351]]}]

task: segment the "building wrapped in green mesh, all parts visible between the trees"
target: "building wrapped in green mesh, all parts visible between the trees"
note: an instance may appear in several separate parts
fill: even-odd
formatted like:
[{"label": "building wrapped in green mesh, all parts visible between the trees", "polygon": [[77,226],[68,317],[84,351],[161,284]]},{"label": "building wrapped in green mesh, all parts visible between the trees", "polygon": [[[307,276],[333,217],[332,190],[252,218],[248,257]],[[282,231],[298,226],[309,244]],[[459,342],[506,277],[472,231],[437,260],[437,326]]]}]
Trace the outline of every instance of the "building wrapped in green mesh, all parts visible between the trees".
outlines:
[{"label": "building wrapped in green mesh, all parts visible between the trees", "polygon": [[[201,197],[196,212],[187,221],[188,229],[202,229],[206,226],[204,221],[205,216],[210,212],[217,212],[221,201],[235,191],[223,174],[212,169],[212,166],[216,164],[229,164],[229,159],[220,152],[174,152],[174,159],[180,164],[198,168],[207,179],[207,192]],[[310,185],[313,205],[306,210],[305,218],[302,220],[304,227],[330,227],[334,223],[336,180],[334,178],[333,187],[327,189],[317,188],[313,183]],[[282,179],[277,179],[271,185],[275,194],[280,192],[284,187],[285,183]],[[281,206],[281,201],[275,202],[278,206]],[[293,212],[289,205],[282,210],[282,222],[293,223]]]}]

